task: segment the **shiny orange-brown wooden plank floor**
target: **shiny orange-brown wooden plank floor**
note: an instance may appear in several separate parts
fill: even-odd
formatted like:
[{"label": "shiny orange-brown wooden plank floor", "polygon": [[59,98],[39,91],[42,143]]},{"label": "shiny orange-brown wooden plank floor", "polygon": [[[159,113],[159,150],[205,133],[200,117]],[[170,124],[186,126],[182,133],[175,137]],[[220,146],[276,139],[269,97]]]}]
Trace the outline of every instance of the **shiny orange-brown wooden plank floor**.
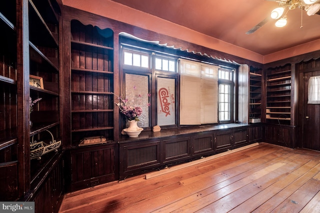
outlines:
[{"label": "shiny orange-brown wooden plank floor", "polygon": [[259,143],[152,178],[68,193],[59,212],[196,211],[320,212],[320,152]]}]

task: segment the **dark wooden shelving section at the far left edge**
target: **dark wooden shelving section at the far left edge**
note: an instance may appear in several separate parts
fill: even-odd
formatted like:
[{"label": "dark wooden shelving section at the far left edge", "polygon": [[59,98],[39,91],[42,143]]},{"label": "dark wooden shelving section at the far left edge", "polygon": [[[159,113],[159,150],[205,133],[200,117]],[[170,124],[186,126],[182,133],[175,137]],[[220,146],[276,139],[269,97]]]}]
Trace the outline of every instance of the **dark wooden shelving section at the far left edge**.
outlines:
[{"label": "dark wooden shelving section at the far left edge", "polygon": [[[15,0],[0,2],[0,200],[16,200],[18,180],[17,9]],[[4,177],[4,176],[3,176]],[[22,183],[23,184],[23,183]]]}]

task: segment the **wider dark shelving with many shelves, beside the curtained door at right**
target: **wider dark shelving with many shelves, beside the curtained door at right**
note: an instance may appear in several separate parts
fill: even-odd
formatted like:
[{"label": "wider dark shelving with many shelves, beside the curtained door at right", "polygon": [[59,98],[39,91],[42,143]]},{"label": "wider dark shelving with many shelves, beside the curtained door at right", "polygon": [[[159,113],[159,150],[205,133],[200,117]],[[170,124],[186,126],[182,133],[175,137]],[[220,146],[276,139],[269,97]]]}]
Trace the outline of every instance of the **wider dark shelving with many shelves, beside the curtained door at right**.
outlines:
[{"label": "wider dark shelving with many shelves, beside the curtained door at right", "polygon": [[291,64],[266,71],[267,123],[290,124],[291,119]]}]

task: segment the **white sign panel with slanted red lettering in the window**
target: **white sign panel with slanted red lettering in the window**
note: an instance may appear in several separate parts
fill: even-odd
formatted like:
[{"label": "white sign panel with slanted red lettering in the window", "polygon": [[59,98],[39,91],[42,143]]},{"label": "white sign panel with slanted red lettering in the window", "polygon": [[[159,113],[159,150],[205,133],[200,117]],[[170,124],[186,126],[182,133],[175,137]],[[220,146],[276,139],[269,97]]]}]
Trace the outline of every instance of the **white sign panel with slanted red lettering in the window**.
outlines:
[{"label": "white sign panel with slanted red lettering in the window", "polygon": [[175,124],[175,79],[157,78],[157,125]]}]

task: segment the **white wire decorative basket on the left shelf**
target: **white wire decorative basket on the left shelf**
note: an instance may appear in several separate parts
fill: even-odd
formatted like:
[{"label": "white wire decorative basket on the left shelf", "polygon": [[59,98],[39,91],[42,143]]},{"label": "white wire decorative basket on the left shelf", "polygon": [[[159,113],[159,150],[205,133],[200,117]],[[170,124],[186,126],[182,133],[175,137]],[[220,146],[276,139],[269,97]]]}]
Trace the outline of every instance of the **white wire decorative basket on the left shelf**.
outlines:
[{"label": "white wire decorative basket on the left shelf", "polygon": [[40,141],[37,142],[36,140],[33,140],[34,135],[31,138],[30,141],[30,158],[31,159],[41,159],[41,156],[43,154],[46,154],[50,151],[57,151],[57,148],[61,145],[61,140],[56,141],[53,138],[52,133],[49,130],[46,130],[49,132],[49,134],[52,137],[52,140],[49,142],[49,144]]}]

